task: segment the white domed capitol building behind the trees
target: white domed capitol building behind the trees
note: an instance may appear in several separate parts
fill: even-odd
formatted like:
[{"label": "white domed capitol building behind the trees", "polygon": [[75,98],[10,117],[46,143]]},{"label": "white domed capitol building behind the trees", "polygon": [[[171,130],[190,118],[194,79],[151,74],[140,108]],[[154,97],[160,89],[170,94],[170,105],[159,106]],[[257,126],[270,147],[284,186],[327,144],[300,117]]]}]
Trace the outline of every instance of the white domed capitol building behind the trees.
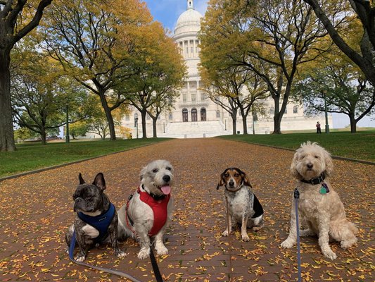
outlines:
[{"label": "white domed capitol building behind the trees", "polygon": [[[201,30],[202,15],[194,10],[193,0],[187,1],[187,8],[182,13],[174,28],[174,40],[181,49],[188,75],[184,87],[180,90],[174,109],[168,113],[162,113],[157,123],[158,137],[212,137],[218,135],[232,134],[232,119],[219,105],[210,100],[207,94],[200,88],[201,77],[198,73],[199,40],[198,32]],[[254,123],[255,134],[272,133],[273,123],[273,100],[267,99],[265,104],[269,109],[267,118],[260,118]],[[134,118],[141,117],[136,109],[125,116],[122,125],[132,129],[132,137],[142,137],[141,121],[138,128],[134,127]],[[307,118],[303,114],[303,108],[297,104],[288,104],[286,114],[281,121],[281,130],[306,130],[314,129],[315,123],[320,121],[324,130],[324,115]],[[253,118],[248,115],[248,133],[253,133]],[[329,125],[332,127],[332,116],[329,116]],[[241,115],[237,117],[236,130],[243,133]],[[136,133],[138,130],[138,134]],[[147,137],[153,136],[152,119],[146,118]],[[120,136],[119,136],[120,137]]]}]

